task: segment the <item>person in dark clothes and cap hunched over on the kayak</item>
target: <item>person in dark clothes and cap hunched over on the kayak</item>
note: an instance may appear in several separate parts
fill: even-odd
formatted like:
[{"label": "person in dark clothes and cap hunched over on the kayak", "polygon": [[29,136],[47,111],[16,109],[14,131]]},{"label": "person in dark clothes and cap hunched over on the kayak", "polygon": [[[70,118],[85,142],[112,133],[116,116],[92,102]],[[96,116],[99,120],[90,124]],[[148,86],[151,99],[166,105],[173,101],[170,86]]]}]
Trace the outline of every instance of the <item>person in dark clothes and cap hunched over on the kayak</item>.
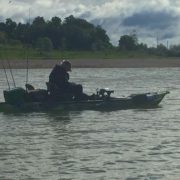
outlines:
[{"label": "person in dark clothes and cap hunched over on the kayak", "polygon": [[55,65],[49,75],[50,94],[58,99],[88,99],[88,95],[83,93],[81,84],[69,82],[69,71],[71,63],[63,60],[59,65]]}]

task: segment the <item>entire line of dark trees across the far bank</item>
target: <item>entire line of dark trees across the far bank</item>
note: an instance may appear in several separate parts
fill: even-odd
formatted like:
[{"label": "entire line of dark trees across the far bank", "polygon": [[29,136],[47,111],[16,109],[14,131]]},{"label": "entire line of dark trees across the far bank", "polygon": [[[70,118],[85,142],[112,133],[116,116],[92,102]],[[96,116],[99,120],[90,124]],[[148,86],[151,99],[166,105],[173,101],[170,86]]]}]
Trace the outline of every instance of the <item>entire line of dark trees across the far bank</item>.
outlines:
[{"label": "entire line of dark trees across the far bank", "polygon": [[16,23],[8,18],[5,22],[0,22],[0,45],[13,43],[28,45],[40,51],[52,49],[67,51],[115,49],[180,56],[180,45],[167,48],[163,44],[159,44],[157,47],[148,48],[146,44],[138,42],[135,33],[120,36],[118,46],[115,47],[101,26],[95,26],[72,15],[63,21],[56,16],[47,21],[38,16],[31,23]]}]

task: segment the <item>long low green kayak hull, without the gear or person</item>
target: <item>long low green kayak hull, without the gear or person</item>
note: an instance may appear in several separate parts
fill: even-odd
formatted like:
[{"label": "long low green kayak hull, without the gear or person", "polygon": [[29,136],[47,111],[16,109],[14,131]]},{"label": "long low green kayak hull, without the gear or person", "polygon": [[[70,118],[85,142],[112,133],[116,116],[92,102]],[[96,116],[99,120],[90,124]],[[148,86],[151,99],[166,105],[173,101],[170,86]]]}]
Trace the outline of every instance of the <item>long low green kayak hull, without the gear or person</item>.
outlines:
[{"label": "long low green kayak hull, without the gear or person", "polygon": [[62,101],[62,102],[27,102],[20,104],[0,103],[0,112],[33,112],[33,111],[61,111],[61,110],[98,110],[98,111],[113,111],[123,109],[136,108],[154,108],[158,107],[162,99],[168,91],[153,92],[144,94],[132,94],[123,98],[105,98],[97,100],[82,100],[82,101]]}]

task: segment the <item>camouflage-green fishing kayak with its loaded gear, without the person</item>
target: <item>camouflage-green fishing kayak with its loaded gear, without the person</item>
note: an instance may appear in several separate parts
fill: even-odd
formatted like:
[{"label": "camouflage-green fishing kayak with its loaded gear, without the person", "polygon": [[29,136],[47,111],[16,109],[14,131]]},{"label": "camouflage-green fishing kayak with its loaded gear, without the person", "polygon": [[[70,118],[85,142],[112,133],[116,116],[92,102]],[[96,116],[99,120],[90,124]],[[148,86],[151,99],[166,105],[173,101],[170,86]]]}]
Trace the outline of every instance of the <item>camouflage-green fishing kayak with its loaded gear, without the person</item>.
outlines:
[{"label": "camouflage-green fishing kayak with its loaded gear, without the person", "polygon": [[127,97],[112,97],[113,90],[100,89],[89,99],[54,100],[47,90],[27,91],[21,87],[4,91],[5,102],[0,103],[0,112],[97,110],[114,111],[123,109],[158,107],[169,91],[131,94]]}]

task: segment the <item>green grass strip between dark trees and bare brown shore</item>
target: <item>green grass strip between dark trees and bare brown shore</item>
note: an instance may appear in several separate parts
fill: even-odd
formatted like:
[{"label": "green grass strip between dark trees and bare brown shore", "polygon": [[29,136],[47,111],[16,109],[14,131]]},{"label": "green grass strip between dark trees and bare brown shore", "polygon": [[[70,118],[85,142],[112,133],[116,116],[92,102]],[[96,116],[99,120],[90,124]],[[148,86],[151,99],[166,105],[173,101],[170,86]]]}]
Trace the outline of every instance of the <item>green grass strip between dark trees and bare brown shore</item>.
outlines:
[{"label": "green grass strip between dark trees and bare brown shore", "polygon": [[122,59],[156,57],[137,51],[63,51],[39,52],[32,48],[21,46],[0,47],[0,59]]}]

